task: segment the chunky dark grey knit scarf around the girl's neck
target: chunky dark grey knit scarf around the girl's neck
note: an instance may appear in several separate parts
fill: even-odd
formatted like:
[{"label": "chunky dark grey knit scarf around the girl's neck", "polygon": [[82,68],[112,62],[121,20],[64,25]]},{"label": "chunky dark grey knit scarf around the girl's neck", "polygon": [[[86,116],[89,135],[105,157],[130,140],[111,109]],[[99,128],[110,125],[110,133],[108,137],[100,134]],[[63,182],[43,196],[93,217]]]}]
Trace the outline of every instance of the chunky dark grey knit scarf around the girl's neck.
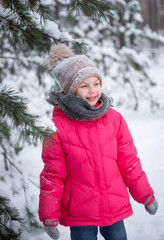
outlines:
[{"label": "chunky dark grey knit scarf around the girl's neck", "polygon": [[60,108],[69,118],[90,121],[102,117],[111,106],[111,99],[101,94],[98,107],[92,107],[86,100],[73,94],[51,92],[47,101]]}]

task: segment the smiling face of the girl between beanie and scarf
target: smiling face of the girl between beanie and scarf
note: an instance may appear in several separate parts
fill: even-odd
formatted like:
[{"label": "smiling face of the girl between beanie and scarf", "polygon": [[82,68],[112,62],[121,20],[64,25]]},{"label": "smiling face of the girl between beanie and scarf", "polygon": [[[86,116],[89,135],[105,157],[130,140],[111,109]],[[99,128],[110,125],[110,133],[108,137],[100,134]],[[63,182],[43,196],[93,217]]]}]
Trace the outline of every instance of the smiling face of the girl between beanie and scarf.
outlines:
[{"label": "smiling face of the girl between beanie and scarf", "polygon": [[95,76],[84,79],[80,83],[75,94],[94,107],[101,96],[100,80]]}]

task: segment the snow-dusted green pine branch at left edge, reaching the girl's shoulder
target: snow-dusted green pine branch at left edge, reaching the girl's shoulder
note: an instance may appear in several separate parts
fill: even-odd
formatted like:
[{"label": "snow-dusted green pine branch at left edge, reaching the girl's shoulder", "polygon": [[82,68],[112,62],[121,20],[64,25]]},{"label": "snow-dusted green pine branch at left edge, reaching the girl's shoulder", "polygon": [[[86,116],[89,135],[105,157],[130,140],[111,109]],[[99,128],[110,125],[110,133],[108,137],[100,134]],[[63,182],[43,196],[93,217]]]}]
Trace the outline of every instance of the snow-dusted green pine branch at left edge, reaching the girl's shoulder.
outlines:
[{"label": "snow-dusted green pine branch at left edge, reaching the girl's shoulder", "polygon": [[[6,86],[0,92],[0,115],[2,119],[9,118],[13,127],[19,131],[20,139],[29,144],[37,143],[46,136],[52,134],[49,128],[38,127],[37,115],[31,115],[27,112],[27,100],[18,96],[12,89]],[[3,134],[3,132],[1,133]]]}]

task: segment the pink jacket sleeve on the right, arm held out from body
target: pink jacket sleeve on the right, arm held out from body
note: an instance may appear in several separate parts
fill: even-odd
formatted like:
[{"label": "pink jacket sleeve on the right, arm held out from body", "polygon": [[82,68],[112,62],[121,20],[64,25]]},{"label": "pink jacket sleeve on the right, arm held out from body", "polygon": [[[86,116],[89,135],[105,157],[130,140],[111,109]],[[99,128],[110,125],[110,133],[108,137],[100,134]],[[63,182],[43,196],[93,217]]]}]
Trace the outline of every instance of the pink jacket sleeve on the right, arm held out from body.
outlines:
[{"label": "pink jacket sleeve on the right, arm held out from body", "polygon": [[124,182],[134,200],[144,203],[151,195],[154,195],[154,192],[142,170],[133,138],[122,116],[117,132],[117,146],[117,162]]}]

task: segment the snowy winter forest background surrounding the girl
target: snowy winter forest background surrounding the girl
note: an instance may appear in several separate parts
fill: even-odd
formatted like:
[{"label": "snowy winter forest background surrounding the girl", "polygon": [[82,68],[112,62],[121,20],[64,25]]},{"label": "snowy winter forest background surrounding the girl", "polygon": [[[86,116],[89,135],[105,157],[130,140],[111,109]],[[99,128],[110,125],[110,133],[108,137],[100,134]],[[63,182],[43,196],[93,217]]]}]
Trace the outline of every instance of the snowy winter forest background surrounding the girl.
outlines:
[{"label": "snowy winter forest background surrounding the girl", "polygon": [[0,1],[0,240],[50,239],[38,217],[39,176],[42,141],[55,131],[46,99],[60,90],[47,56],[61,43],[96,62],[155,191],[154,216],[131,198],[128,239],[163,240],[163,0]]}]

